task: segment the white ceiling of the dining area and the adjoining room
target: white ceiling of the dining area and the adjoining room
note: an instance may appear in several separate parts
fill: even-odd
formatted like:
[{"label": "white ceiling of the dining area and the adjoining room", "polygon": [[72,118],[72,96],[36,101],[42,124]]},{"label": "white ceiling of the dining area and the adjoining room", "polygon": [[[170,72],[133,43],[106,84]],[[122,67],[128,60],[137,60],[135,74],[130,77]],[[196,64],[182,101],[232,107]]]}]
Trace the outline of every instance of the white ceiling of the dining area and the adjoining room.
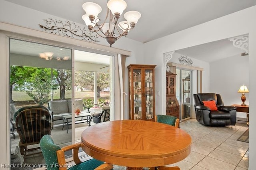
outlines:
[{"label": "white ceiling of the dining area and the adjoining room", "polygon": [[[102,12],[98,17],[104,19],[106,16],[106,0],[6,1],[82,24],[84,24],[82,15],[85,14],[82,4],[84,2],[95,2],[102,7]],[[130,10],[136,10],[142,14],[134,30],[130,31],[127,37],[145,43],[255,6],[256,0],[126,0],[126,3],[127,8],[124,13]],[[124,20],[123,15],[120,20]],[[226,47],[226,43],[228,43],[229,47]],[[231,43],[229,41],[223,40],[177,52],[182,55],[211,62],[213,61],[212,59],[220,59],[220,56],[222,56],[220,55],[220,51],[223,51],[223,55],[225,54],[225,56],[227,56],[226,53],[229,53],[228,56],[232,56],[234,53],[241,53],[241,51],[237,51],[237,48],[232,48],[230,45]],[[209,49],[212,49],[211,55],[209,54]]]}]

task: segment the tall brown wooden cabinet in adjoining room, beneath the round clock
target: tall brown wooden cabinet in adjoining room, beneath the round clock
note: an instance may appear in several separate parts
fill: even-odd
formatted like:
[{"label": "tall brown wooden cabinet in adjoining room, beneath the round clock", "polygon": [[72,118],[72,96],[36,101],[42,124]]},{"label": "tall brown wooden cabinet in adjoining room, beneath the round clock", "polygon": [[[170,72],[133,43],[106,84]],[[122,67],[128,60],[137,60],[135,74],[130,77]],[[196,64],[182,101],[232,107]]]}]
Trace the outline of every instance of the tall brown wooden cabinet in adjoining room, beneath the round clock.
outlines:
[{"label": "tall brown wooden cabinet in adjoining room, beneath the round clock", "polygon": [[176,74],[166,72],[166,115],[180,119],[180,105],[176,98]]}]

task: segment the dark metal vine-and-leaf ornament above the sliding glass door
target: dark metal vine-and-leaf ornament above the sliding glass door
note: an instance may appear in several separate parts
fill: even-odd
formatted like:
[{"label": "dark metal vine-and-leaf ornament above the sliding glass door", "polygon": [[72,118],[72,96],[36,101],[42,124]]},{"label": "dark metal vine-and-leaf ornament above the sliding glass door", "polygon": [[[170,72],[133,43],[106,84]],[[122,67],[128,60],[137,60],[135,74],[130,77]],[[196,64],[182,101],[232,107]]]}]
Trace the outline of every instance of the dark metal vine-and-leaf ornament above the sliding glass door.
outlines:
[{"label": "dark metal vine-and-leaf ornament above the sliding glass door", "polygon": [[90,32],[87,28],[81,28],[76,23],[72,21],[60,21],[60,20],[53,20],[48,18],[44,20],[46,25],[40,25],[42,29],[46,32],[54,33],[57,35],[64,35],[66,37],[78,37],[81,40],[85,40],[88,42],[98,42],[96,35],[94,32]]}]

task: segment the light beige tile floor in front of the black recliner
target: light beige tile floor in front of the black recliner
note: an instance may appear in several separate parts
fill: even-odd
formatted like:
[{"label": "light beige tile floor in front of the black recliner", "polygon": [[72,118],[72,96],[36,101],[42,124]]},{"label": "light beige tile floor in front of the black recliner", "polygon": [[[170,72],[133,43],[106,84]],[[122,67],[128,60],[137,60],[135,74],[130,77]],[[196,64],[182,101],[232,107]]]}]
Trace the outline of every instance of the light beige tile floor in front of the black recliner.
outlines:
[{"label": "light beige tile floor in front of the black recliner", "polygon": [[180,123],[180,128],[192,137],[190,155],[168,166],[181,170],[246,170],[249,161],[249,144],[236,141],[246,129],[245,123],[235,126],[207,127],[196,119]]}]

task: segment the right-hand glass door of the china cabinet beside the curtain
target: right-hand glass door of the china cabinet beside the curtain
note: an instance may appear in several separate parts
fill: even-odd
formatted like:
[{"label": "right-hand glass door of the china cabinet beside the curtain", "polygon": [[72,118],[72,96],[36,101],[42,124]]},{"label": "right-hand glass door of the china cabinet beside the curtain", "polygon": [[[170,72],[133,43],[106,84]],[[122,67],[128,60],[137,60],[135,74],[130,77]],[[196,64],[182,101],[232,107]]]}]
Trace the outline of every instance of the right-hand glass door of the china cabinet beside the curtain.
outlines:
[{"label": "right-hand glass door of the china cabinet beside the curtain", "polygon": [[153,70],[145,70],[144,98],[146,105],[146,119],[153,119]]}]

